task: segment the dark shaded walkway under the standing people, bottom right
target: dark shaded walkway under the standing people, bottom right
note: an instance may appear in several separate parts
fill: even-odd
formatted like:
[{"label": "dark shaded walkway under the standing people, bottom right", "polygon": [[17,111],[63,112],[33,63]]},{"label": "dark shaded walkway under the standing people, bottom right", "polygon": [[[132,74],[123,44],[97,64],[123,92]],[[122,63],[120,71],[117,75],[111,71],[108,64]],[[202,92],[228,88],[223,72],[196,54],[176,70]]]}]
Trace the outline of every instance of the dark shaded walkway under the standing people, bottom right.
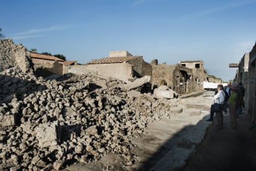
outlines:
[{"label": "dark shaded walkway under the standing people, bottom right", "polygon": [[216,129],[216,123],[208,128],[205,140],[184,171],[256,170],[256,129],[249,130],[250,115],[237,119],[236,130],[229,123],[229,115],[224,115],[222,130]]}]

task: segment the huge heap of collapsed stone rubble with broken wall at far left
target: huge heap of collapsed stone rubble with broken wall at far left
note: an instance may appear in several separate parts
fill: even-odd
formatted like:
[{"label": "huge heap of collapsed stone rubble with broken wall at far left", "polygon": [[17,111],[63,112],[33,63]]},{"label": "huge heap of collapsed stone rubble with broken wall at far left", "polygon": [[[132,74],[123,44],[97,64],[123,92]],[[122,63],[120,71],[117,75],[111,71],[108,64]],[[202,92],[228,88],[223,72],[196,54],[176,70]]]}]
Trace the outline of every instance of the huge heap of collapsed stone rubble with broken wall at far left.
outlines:
[{"label": "huge heap of collapsed stone rubble with broken wall at far left", "polygon": [[132,137],[182,112],[179,99],[127,91],[114,78],[36,77],[23,46],[11,40],[0,46],[0,170],[59,170],[110,152],[129,168],[138,161]]}]

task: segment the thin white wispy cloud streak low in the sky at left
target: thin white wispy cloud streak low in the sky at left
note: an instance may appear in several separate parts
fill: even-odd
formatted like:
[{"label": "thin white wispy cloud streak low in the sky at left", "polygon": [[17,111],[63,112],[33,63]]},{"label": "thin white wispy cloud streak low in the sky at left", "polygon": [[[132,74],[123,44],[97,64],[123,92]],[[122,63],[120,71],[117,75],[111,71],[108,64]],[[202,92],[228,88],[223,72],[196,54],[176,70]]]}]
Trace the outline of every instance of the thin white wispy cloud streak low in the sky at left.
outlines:
[{"label": "thin white wispy cloud streak low in the sky at left", "polygon": [[58,31],[63,30],[66,28],[69,28],[69,25],[54,25],[48,28],[35,28],[27,31],[23,31],[20,33],[15,33],[12,35],[13,40],[23,40],[27,38],[38,38],[43,37],[45,35],[42,35],[41,33],[47,33],[49,31]]}]

